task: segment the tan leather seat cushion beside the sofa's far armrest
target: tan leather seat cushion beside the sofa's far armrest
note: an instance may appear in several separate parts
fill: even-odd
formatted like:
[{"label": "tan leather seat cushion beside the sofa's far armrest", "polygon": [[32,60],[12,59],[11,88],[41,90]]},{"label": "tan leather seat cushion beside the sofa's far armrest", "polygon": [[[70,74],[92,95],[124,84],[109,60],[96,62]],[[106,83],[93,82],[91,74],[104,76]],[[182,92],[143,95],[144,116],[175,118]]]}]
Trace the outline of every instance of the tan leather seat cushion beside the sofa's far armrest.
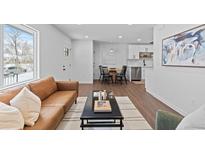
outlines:
[{"label": "tan leather seat cushion beside the sofa's far armrest", "polygon": [[42,102],[42,106],[61,106],[66,112],[75,99],[77,98],[76,91],[57,91]]}]

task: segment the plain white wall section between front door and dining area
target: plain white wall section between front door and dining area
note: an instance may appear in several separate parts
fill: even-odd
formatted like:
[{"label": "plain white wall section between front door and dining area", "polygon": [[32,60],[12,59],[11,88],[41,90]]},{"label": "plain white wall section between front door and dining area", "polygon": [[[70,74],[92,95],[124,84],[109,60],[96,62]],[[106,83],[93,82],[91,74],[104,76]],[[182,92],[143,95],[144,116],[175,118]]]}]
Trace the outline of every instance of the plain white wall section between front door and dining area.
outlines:
[{"label": "plain white wall section between front door and dining area", "polygon": [[93,83],[93,41],[72,41],[72,79]]}]

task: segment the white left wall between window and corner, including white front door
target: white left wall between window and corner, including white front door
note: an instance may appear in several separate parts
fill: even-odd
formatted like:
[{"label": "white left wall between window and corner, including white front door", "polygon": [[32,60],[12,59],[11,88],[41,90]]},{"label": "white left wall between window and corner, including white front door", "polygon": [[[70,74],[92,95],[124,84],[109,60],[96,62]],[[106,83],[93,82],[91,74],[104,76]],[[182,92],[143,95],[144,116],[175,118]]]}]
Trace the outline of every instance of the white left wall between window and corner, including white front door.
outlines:
[{"label": "white left wall between window and corner, including white front door", "polygon": [[[71,57],[64,56],[64,48],[71,48],[69,37],[52,25],[29,25],[40,32],[40,77],[52,75],[58,80],[71,78]],[[62,66],[66,66],[66,71]]]}]

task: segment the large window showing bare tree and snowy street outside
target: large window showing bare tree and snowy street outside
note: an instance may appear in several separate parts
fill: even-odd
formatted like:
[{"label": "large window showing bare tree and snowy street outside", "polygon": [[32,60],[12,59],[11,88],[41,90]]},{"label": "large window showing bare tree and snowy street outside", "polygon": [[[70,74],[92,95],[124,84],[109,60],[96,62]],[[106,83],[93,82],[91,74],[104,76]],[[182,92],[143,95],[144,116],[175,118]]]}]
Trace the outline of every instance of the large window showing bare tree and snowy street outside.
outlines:
[{"label": "large window showing bare tree and snowy street outside", "polygon": [[37,31],[26,25],[1,25],[0,88],[38,78]]}]

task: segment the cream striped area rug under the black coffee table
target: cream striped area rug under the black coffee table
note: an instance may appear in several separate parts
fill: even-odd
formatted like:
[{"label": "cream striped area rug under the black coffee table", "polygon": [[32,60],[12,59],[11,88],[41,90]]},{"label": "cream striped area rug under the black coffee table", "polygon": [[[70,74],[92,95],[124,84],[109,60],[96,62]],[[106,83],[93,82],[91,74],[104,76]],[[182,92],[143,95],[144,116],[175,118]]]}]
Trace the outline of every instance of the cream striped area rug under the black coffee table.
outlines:
[{"label": "cream striped area rug under the black coffee table", "polygon": [[[80,116],[83,111],[87,97],[78,97],[77,104],[73,104],[70,110],[65,114],[63,120],[58,126],[58,130],[81,130]],[[152,129],[141,113],[128,97],[116,97],[117,103],[124,116],[123,130],[147,130]],[[85,128],[89,130],[119,130],[115,127]]]}]

